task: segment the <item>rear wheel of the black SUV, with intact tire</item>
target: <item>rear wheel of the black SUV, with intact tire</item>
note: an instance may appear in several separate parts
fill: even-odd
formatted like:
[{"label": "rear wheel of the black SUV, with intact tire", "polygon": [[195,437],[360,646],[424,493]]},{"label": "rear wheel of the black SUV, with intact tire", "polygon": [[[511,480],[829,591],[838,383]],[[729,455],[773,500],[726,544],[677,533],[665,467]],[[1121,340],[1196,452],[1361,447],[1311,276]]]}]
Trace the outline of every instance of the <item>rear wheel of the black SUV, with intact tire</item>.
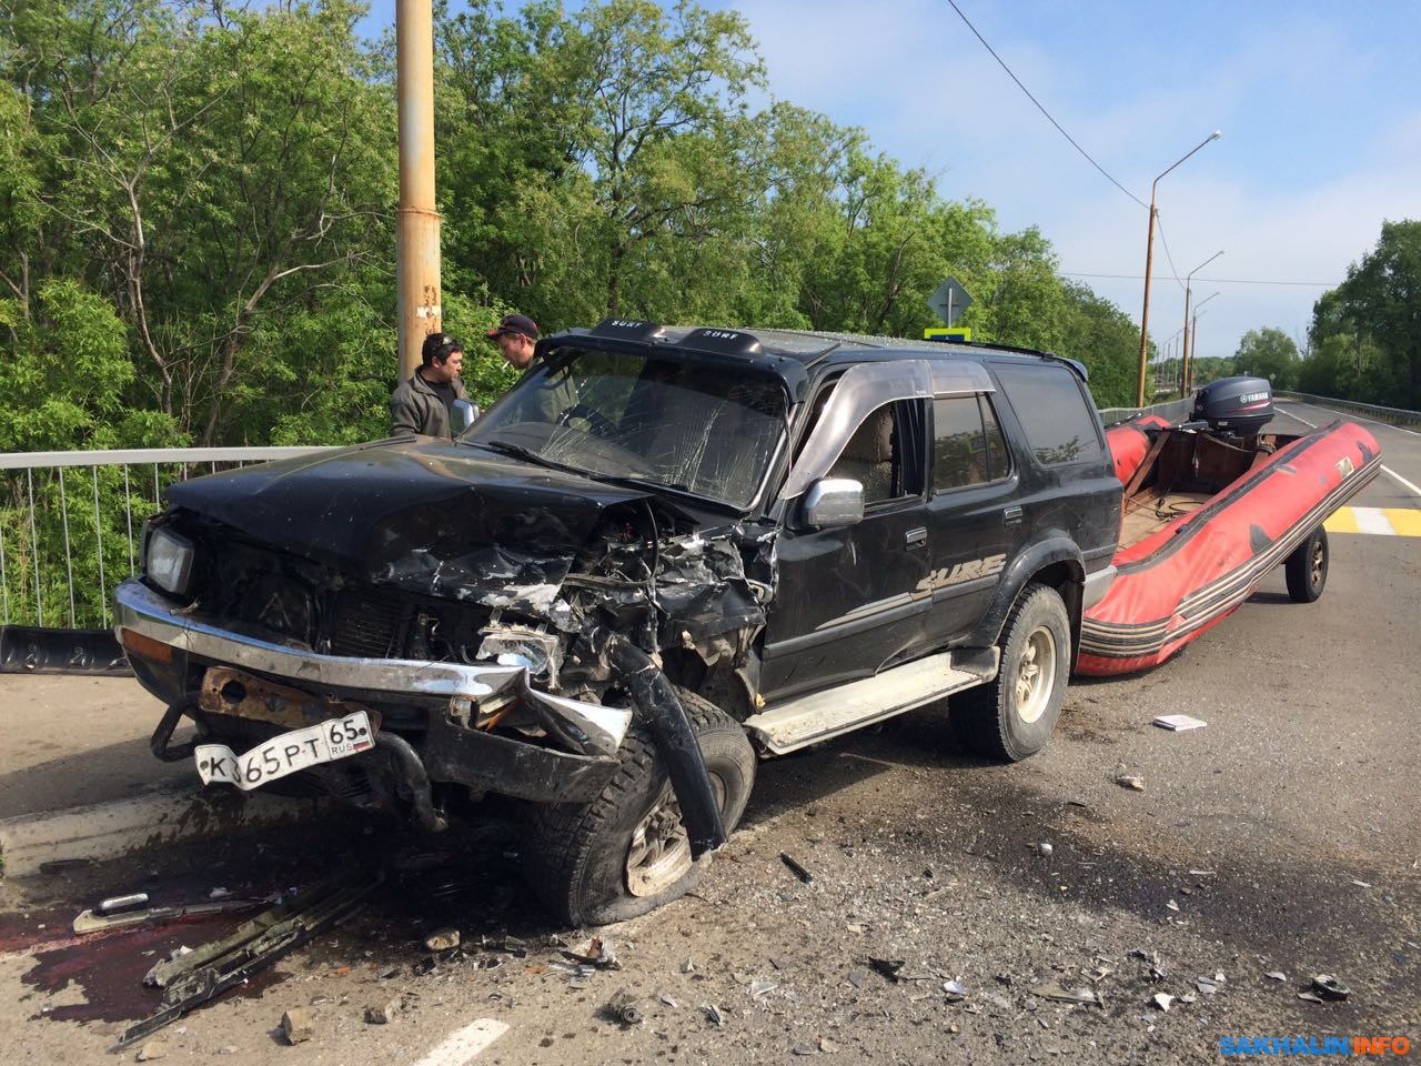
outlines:
[{"label": "rear wheel of the black SUV, with intact tire", "polygon": [[[1060,593],[1044,584],[1027,586],[1006,621],[1000,647],[996,679],[952,696],[948,706],[952,726],[968,746],[990,759],[1019,762],[1046,746],[1066,699],[1070,615]],[[1032,689],[1022,701],[1019,692],[1030,684],[1026,675],[1033,664],[1044,688]]]}]

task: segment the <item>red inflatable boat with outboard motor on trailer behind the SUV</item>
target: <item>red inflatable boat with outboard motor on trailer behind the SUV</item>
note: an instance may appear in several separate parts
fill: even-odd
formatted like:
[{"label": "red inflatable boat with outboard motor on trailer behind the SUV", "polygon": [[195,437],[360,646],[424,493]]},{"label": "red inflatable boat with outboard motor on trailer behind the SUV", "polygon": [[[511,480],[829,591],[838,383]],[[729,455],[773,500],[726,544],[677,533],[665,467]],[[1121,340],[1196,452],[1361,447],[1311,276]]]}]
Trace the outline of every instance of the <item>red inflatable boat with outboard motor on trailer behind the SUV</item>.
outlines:
[{"label": "red inflatable boat with outboard motor on trailer behind the SUV", "polygon": [[1195,421],[1147,416],[1107,434],[1124,489],[1117,577],[1086,611],[1080,674],[1164,662],[1248,600],[1275,566],[1293,600],[1327,580],[1323,520],[1381,469],[1376,439],[1336,421],[1302,436],[1260,432],[1268,381],[1201,389]]}]

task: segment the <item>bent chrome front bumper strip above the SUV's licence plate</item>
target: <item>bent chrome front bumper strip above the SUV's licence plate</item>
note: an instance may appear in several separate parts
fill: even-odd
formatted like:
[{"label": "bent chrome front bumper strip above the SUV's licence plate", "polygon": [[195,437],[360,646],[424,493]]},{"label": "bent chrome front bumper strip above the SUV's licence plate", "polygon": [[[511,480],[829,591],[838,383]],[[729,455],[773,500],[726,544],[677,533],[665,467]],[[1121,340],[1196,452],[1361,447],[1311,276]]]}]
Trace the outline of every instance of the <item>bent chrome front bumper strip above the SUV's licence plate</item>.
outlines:
[{"label": "bent chrome front bumper strip above the SUV's licence plate", "polygon": [[320,692],[365,694],[367,698],[369,694],[435,696],[459,702],[527,698],[568,726],[558,729],[558,735],[581,748],[584,755],[615,755],[631,725],[630,709],[540,692],[529,684],[526,665],[321,655],[222,625],[200,610],[175,605],[138,578],[124,581],[114,591],[114,634],[131,651],[125,631],[207,664],[239,667]]}]

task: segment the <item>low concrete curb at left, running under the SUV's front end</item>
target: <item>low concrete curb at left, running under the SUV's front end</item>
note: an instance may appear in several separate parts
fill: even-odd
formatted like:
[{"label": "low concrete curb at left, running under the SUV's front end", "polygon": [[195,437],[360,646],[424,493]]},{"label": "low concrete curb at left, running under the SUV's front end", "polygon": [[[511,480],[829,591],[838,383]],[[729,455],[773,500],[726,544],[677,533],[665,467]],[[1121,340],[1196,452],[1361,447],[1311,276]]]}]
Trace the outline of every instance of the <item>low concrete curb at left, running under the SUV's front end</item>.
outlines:
[{"label": "low concrete curb at left, running under the SUV's front end", "polygon": [[129,851],[242,833],[321,813],[315,799],[236,790],[169,787],[132,799],[21,814],[0,822],[6,877],[28,877],[54,863],[104,861]]}]

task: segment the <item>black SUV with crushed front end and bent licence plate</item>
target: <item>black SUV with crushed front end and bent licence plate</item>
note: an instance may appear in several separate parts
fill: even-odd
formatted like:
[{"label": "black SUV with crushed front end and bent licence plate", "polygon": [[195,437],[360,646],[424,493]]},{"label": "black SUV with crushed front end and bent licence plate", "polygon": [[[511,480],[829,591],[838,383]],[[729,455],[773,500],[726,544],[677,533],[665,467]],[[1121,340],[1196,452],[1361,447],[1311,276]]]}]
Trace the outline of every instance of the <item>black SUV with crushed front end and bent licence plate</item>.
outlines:
[{"label": "black SUV with crushed front end and bent licence plate", "polygon": [[625,320],[537,352],[453,442],[169,490],[117,591],[159,758],[512,813],[543,903],[607,922],[701,877],[757,752],[948,695],[989,756],[1046,743],[1120,529],[1077,364]]}]

